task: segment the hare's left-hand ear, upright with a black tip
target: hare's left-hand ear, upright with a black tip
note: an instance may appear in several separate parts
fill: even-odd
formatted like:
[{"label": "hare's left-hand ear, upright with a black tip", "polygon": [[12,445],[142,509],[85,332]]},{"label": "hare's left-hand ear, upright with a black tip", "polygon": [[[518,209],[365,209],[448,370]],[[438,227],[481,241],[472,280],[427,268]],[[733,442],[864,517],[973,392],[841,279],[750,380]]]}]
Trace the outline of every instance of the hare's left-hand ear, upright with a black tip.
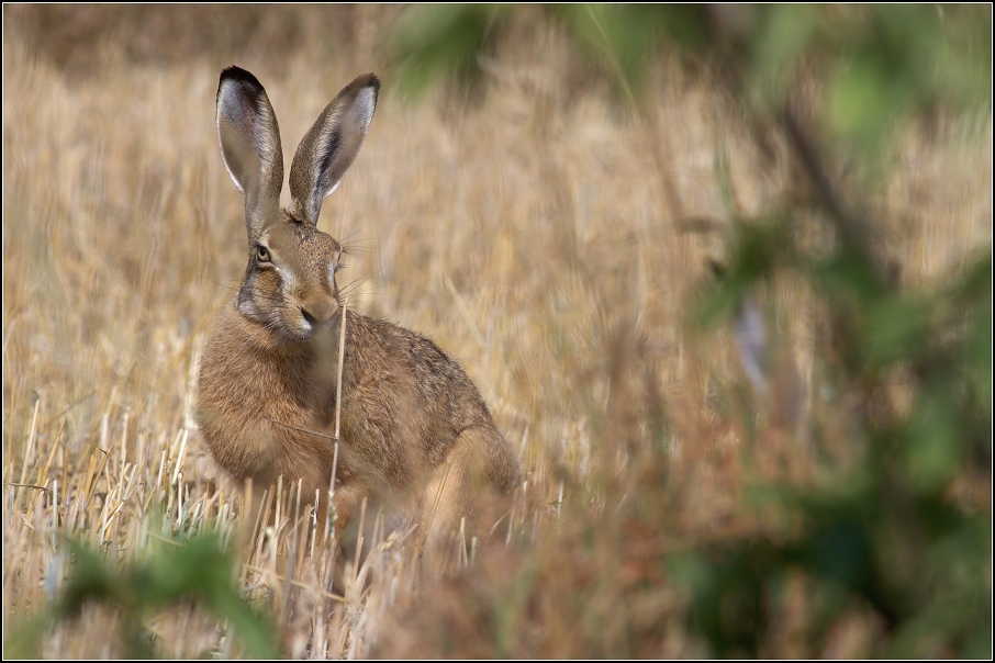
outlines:
[{"label": "hare's left-hand ear, upright with a black tip", "polygon": [[216,121],[224,165],[245,195],[245,223],[251,241],[264,223],[280,212],[280,127],[266,90],[255,76],[238,67],[221,72]]}]

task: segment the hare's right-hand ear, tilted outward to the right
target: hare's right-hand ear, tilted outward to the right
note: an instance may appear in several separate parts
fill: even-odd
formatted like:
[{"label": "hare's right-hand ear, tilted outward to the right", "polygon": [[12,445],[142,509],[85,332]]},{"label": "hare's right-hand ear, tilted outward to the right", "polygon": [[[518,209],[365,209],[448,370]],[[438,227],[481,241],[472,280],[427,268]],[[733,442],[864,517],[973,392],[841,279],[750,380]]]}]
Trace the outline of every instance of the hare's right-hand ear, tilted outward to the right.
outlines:
[{"label": "hare's right-hand ear, tilted outward to the right", "polygon": [[356,160],[370,130],[380,80],[360,76],[343,88],[301,141],[290,166],[291,214],[317,225],[322,202]]}]

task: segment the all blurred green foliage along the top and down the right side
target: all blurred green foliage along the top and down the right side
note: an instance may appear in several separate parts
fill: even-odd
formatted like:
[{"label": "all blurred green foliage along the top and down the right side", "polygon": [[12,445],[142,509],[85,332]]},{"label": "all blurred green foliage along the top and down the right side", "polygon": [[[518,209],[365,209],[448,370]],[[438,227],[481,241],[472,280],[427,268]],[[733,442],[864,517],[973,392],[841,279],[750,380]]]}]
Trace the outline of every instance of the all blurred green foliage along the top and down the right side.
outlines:
[{"label": "all blurred green foliage along the top and down the right side", "polygon": [[[413,10],[417,21],[398,42],[420,72],[412,80],[427,83],[441,61],[472,74],[473,54],[512,12]],[[884,621],[882,653],[990,658],[991,513],[959,503],[951,486],[977,473],[991,481],[991,250],[932,289],[901,288],[874,255],[874,222],[849,211],[860,209],[852,204],[859,192],[825,173],[828,155],[840,150],[879,168],[902,119],[990,103],[991,5],[562,5],[547,13],[636,104],[653,58],[717,63],[757,125],[786,136],[795,177],[816,192],[837,237],[819,255],[795,246],[792,226],[810,210],[790,200],[761,223],[738,220],[728,265],[698,310],[702,323],[733,322],[764,282],[801,279],[827,311],[826,356],[840,358],[826,361],[827,384],[814,387],[861,406],[837,405],[858,460],[830,468],[832,488],[771,486],[795,524],[787,531],[670,558],[671,575],[691,592],[692,630],[718,655],[758,654],[771,597],[801,573],[817,587],[816,644],[860,605]],[[812,76],[814,99],[797,89]],[[800,101],[814,103],[810,127],[796,115]],[[910,405],[871,407],[896,380]]]}]

